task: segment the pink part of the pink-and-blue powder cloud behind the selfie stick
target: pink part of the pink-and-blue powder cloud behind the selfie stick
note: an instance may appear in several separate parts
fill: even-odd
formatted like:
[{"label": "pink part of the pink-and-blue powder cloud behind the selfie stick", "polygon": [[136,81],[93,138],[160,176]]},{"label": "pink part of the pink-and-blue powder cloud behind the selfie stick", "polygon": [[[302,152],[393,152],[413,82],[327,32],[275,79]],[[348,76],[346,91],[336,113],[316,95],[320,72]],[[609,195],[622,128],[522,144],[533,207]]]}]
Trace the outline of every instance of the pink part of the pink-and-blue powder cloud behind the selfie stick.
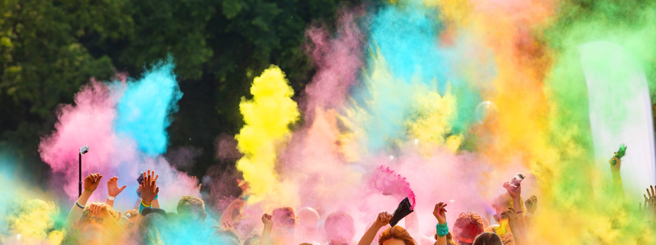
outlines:
[{"label": "pink part of the pink-and-blue powder cloud behind the selfie stick", "polygon": [[60,107],[54,132],[41,140],[41,159],[68,178],[66,193],[77,197],[77,155],[83,145],[91,145],[93,152],[84,156],[83,173],[115,164],[111,158],[117,140],[112,127],[115,104],[105,83],[91,81],[75,94],[75,104]]}]

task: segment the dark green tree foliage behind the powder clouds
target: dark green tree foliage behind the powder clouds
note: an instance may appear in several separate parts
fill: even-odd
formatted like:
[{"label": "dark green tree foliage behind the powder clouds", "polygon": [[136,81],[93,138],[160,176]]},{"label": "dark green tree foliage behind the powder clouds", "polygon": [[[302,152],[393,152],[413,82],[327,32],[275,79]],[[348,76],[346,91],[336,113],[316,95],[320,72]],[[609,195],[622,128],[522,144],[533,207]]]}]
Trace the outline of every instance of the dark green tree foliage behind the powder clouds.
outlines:
[{"label": "dark green tree foliage behind the powder clouds", "polygon": [[[203,149],[192,172],[214,164],[214,141],[242,125],[239,99],[279,65],[300,90],[312,75],[303,48],[313,22],[333,23],[335,0],[0,1],[0,150],[45,168],[37,145],[59,104],[116,72],[139,75],[171,54],[185,93],[171,147]],[[44,171],[45,172],[45,171]]]}]

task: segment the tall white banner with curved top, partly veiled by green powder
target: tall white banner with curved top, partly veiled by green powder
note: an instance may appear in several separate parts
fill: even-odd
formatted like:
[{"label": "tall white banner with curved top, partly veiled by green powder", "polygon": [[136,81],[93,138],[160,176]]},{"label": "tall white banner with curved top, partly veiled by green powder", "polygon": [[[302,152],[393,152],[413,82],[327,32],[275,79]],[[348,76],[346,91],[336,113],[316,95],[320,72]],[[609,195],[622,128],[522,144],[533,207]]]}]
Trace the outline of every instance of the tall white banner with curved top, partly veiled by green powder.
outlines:
[{"label": "tall white banner with curved top, partly veiled by green powder", "polygon": [[656,184],[654,130],[645,73],[630,52],[615,43],[598,41],[578,48],[588,86],[597,167],[609,176],[608,160],[625,143],[621,166],[624,189],[644,192],[644,188]]}]

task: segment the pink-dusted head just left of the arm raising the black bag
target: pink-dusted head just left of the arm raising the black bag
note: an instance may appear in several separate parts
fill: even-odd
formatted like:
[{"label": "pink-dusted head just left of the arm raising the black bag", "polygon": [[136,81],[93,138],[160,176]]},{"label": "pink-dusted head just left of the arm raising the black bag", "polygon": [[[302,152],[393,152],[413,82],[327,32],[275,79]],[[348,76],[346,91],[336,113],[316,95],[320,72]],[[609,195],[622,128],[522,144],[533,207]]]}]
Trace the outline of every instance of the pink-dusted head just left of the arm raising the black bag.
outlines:
[{"label": "pink-dusted head just left of the arm raising the black bag", "polygon": [[330,244],[350,244],[356,235],[356,224],[346,212],[334,212],[326,217],[323,229]]}]

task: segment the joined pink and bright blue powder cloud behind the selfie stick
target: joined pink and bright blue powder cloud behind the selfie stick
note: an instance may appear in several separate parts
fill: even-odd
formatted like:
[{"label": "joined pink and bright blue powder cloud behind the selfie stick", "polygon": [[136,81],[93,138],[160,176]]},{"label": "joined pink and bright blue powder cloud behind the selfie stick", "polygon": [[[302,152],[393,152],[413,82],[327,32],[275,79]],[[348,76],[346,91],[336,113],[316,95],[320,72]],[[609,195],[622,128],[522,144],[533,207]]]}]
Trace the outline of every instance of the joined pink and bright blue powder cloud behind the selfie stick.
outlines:
[{"label": "joined pink and bright blue powder cloud behind the selfie stick", "polygon": [[[92,79],[75,94],[75,104],[60,107],[55,130],[39,144],[41,158],[54,172],[64,173],[64,191],[75,198],[78,150],[89,145],[90,152],[83,156],[83,177],[102,174],[98,189],[106,190],[106,179],[119,176],[119,184],[131,190],[121,194],[127,208],[133,204],[139,173],[157,170],[160,197],[167,197],[160,203],[173,208],[182,195],[199,195],[192,178],[161,155],[168,145],[165,129],[181,96],[171,59],[158,62],[140,79],[118,76],[109,83]],[[96,191],[91,200],[104,200],[104,195],[106,191]]]}]

